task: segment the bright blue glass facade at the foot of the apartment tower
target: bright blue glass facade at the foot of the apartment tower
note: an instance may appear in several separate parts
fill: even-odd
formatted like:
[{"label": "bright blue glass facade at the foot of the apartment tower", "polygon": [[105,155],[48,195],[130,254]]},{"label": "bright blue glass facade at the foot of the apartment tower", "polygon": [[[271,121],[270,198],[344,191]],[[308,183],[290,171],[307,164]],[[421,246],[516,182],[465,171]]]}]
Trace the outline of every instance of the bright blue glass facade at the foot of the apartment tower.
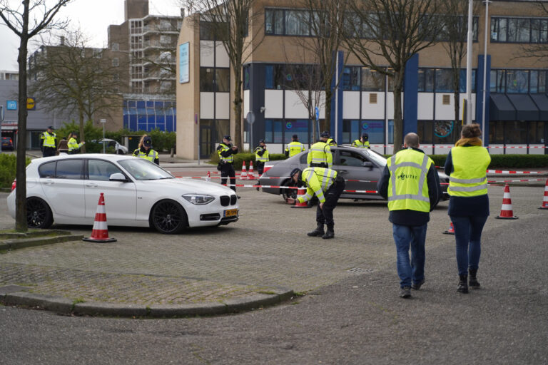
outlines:
[{"label": "bright blue glass facade at the foot of the apartment tower", "polygon": [[123,128],[131,131],[176,131],[176,107],[171,101],[123,101]]}]

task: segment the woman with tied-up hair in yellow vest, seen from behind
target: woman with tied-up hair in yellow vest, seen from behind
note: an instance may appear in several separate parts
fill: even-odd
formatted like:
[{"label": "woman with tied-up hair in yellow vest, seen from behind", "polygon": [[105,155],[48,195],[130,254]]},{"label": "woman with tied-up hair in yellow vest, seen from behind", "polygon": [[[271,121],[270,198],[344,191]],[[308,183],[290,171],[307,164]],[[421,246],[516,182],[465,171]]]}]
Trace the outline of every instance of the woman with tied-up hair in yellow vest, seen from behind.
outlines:
[{"label": "woman with tied-up hair in yellow vest, seen from behind", "polygon": [[489,216],[486,173],[491,157],[482,147],[480,135],[480,125],[465,125],[460,140],[457,140],[445,161],[445,173],[450,176],[448,214],[455,228],[457,245],[457,291],[461,293],[467,293],[469,286],[474,289],[480,287],[476,275],[482,230]]}]

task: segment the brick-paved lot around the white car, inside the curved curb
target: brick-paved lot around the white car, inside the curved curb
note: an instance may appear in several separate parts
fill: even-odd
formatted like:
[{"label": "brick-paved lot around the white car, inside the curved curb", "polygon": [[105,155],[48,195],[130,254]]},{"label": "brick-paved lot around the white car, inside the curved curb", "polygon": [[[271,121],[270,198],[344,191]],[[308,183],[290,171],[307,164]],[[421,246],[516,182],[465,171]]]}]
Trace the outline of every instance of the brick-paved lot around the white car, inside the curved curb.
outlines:
[{"label": "brick-paved lot around the white car, inside the curved curb", "polygon": [[[542,187],[512,187],[514,215],[538,217]],[[485,234],[512,221],[496,220],[503,187],[489,187]],[[341,200],[335,240],[307,237],[314,209],[290,209],[280,197],[240,189],[240,220],[225,227],[160,235],[143,228],[109,227],[118,242],[66,242],[0,254],[0,284],[83,301],[137,304],[213,302],[273,288],[308,292],[356,274],[395,267],[392,226],[384,202]],[[0,228],[13,227],[0,194]],[[454,245],[448,202],[432,212],[427,250]],[[108,217],[108,202],[106,202]],[[91,226],[56,226],[88,236]],[[395,269],[394,289],[397,290]]]}]

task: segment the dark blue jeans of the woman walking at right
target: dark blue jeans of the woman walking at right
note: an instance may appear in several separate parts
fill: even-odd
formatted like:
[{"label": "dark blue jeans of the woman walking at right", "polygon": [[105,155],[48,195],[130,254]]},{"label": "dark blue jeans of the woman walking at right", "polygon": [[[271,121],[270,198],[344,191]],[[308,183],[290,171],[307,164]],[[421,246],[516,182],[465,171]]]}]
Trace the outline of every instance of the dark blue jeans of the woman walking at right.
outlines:
[{"label": "dark blue jeans of the woman walking at right", "polygon": [[467,275],[467,269],[477,269],[482,253],[482,230],[487,216],[460,217],[450,215],[455,228],[455,242],[457,243],[457,267],[459,275]]}]

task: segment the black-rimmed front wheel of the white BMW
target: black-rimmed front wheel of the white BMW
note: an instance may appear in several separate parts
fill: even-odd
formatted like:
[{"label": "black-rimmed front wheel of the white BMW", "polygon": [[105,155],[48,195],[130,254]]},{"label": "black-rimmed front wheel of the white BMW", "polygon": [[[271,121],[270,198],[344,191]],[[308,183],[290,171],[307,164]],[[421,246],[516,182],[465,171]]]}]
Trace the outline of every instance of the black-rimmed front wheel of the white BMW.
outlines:
[{"label": "black-rimmed front wheel of the white BMW", "polygon": [[175,235],[188,225],[188,217],[178,202],[161,200],[152,208],[151,223],[158,232]]}]

